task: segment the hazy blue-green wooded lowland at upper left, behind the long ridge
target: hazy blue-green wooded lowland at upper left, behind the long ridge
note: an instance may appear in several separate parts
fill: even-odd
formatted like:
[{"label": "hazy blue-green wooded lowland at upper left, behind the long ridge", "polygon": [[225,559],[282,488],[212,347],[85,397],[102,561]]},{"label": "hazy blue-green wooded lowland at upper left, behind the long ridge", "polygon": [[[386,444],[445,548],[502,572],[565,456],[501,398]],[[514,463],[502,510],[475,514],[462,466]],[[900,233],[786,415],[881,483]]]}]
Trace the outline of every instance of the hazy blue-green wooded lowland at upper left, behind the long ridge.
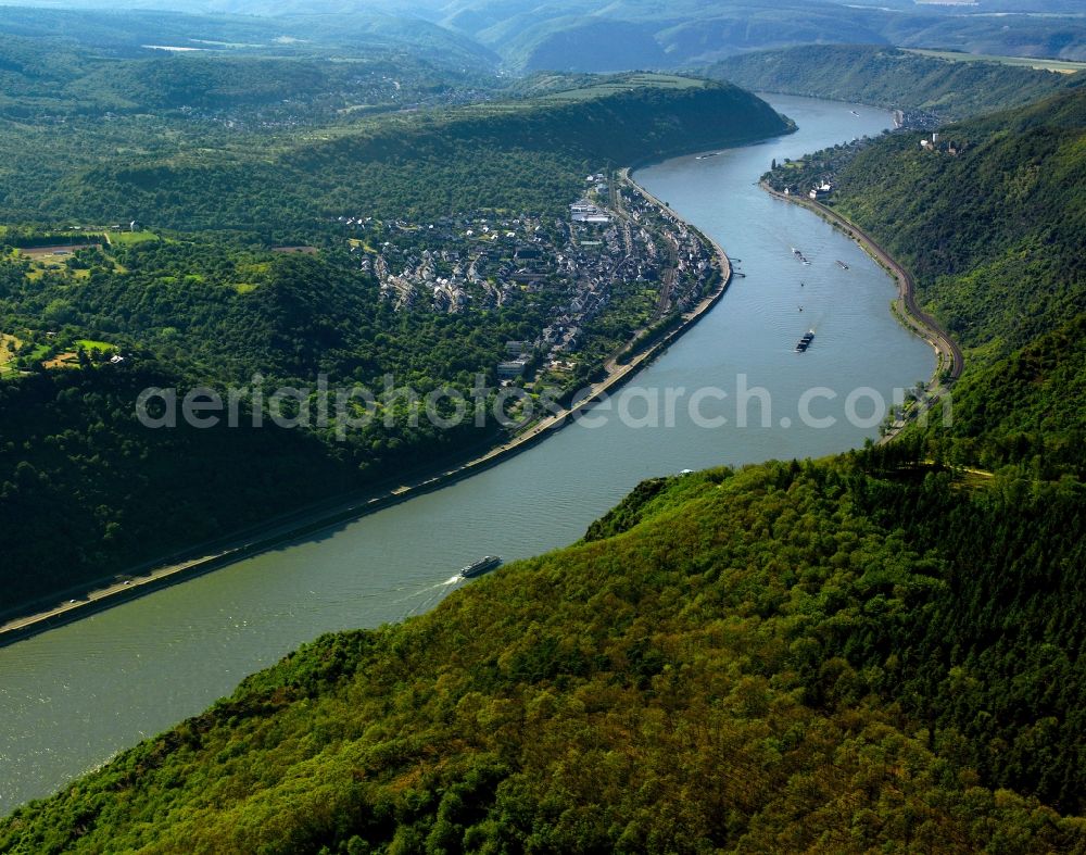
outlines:
[{"label": "hazy blue-green wooded lowland at upper left, behind the long ridge", "polygon": [[[17,10],[0,9],[0,22],[5,15],[17,23]],[[104,21],[108,33],[119,26],[111,15]],[[84,34],[88,22],[77,23]],[[458,61],[450,51],[411,52],[382,43],[361,55],[295,55],[283,49],[175,55],[142,50],[134,56],[65,34],[61,28],[51,37],[0,35],[0,224],[80,226],[89,217],[103,226],[138,216],[155,227],[252,225],[261,222],[260,212],[240,203],[242,213],[230,222],[191,208],[185,217],[176,215],[176,204],[165,200],[176,202],[192,192],[189,187],[162,188],[164,200],[130,203],[129,188],[110,186],[114,174],[100,171],[199,161],[201,176],[222,174],[216,190],[242,180],[274,193],[283,184],[280,173],[245,173],[243,164],[267,165],[277,154],[371,127],[375,116],[447,109],[501,92],[488,66]],[[299,180],[300,174],[294,169],[283,177]],[[80,197],[90,193],[103,193],[104,202],[88,205]],[[298,198],[279,201],[296,204]],[[156,203],[168,216],[155,216]],[[294,221],[290,224],[293,229]]]}]

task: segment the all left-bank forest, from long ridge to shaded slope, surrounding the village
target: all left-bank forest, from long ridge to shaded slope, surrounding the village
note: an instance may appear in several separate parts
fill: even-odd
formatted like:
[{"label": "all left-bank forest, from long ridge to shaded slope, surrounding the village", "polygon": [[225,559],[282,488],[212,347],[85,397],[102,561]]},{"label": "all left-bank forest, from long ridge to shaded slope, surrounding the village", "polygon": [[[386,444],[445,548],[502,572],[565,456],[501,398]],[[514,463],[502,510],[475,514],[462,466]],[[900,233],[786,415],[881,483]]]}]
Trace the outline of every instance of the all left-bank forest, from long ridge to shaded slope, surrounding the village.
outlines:
[{"label": "all left-bank forest, from long ridge to shaded slope, surrounding the village", "polygon": [[[350,231],[343,214],[402,222],[534,211],[553,222],[583,192],[585,172],[788,129],[731,86],[646,76],[573,85],[292,136],[270,162],[268,149],[236,142],[125,165],[110,151],[85,150],[94,165],[72,168],[64,147],[74,143],[31,146],[29,156],[68,172],[55,179],[65,189],[52,202],[31,209],[41,193],[12,189],[0,205],[11,217],[0,231],[0,516],[18,521],[0,528],[0,614],[42,599],[51,605],[62,591],[80,593],[141,562],[495,441],[493,419],[456,430],[426,418],[414,425],[399,400],[381,401],[380,417],[345,437],[334,419],[304,432],[150,431],[137,423],[141,389],[249,389],[257,374],[256,390],[302,388],[310,400],[320,375],[333,388],[375,394],[386,375],[420,398],[446,386],[468,394],[477,374],[496,385],[505,342],[534,339],[560,303],[556,291],[463,313],[397,312],[359,263],[356,244],[381,240],[379,226]],[[138,126],[126,120],[106,133],[125,139]],[[46,178],[10,169],[0,187]],[[132,218],[156,231],[128,230]],[[50,227],[73,221],[126,229],[105,226],[108,244],[62,262],[12,252],[101,242],[100,225]],[[277,243],[306,244],[312,254],[276,252]],[[426,247],[419,239],[418,251]],[[586,328],[571,390],[636,328],[628,302],[616,296]],[[124,362],[111,363],[115,355]],[[258,433],[291,436],[250,441]],[[201,501],[201,490],[214,496]]]}]

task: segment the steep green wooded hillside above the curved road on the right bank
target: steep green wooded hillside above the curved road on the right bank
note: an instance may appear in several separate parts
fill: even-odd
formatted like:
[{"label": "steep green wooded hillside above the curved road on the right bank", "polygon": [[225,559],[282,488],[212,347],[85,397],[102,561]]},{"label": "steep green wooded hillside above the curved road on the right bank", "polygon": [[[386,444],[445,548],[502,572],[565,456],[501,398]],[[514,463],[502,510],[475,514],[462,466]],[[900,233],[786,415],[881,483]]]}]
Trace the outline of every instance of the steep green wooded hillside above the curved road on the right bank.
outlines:
[{"label": "steep green wooded hillside above the curved road on the right bank", "polygon": [[946,127],[937,151],[920,139],[863,147],[833,203],[962,344],[1007,353],[1086,309],[1086,90]]}]

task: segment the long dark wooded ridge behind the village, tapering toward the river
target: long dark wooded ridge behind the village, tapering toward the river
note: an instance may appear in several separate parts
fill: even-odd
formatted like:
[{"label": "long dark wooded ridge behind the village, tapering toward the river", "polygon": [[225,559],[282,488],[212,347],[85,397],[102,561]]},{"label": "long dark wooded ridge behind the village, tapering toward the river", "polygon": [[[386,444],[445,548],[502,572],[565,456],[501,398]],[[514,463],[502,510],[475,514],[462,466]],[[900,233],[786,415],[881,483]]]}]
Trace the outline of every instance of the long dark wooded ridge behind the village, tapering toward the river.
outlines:
[{"label": "long dark wooded ridge behind the village, tapering toward the river", "polygon": [[[129,218],[176,229],[296,234],[343,213],[443,216],[492,208],[557,213],[585,171],[760,139],[787,129],[732,86],[593,88],[386,116],[268,147],[111,159],[47,187],[13,175],[9,221]],[[27,186],[27,185],[31,186]],[[0,192],[4,186],[0,183]],[[36,190],[36,191],[34,191]]]}]

